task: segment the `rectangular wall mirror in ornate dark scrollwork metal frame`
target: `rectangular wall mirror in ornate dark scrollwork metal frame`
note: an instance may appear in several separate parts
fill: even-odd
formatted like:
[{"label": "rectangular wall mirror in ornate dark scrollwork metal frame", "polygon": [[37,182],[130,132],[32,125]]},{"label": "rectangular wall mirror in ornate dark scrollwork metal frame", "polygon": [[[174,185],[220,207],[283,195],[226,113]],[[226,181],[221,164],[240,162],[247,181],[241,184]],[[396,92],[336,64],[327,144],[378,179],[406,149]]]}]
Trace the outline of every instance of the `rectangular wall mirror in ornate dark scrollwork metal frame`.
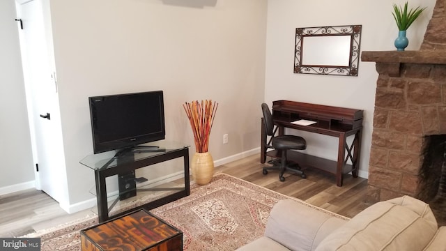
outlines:
[{"label": "rectangular wall mirror in ornate dark scrollwork metal frame", "polygon": [[294,73],[357,76],[361,25],[295,29]]}]

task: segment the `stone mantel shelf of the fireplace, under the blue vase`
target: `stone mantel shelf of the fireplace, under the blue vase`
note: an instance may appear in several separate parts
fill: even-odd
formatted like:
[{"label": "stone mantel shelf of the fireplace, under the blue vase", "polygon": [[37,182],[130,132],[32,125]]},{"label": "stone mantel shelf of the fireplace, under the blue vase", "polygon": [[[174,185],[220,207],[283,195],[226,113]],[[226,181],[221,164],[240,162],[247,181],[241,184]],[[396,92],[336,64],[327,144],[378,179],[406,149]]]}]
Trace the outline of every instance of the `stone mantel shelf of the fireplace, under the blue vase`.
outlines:
[{"label": "stone mantel shelf of the fireplace, under the blue vase", "polygon": [[446,64],[446,50],[362,52],[361,61],[377,63]]}]

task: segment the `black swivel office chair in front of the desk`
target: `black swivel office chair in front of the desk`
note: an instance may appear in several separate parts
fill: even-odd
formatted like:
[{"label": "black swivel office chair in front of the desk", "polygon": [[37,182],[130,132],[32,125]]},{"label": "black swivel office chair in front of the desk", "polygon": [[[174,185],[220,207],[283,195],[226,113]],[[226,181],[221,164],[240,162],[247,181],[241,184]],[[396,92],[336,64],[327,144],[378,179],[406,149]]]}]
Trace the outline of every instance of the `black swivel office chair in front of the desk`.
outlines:
[{"label": "black swivel office chair in front of the desk", "polygon": [[285,181],[284,173],[286,171],[300,174],[302,178],[307,178],[304,172],[300,170],[299,165],[297,165],[296,168],[291,168],[291,166],[288,165],[288,163],[286,162],[286,152],[288,150],[305,150],[307,148],[307,142],[305,142],[305,139],[296,135],[275,136],[272,115],[270,112],[270,108],[268,107],[268,105],[266,105],[266,103],[262,104],[262,112],[266,135],[271,137],[269,142],[265,144],[265,147],[276,149],[277,151],[282,151],[282,158],[280,159],[280,161],[274,161],[274,165],[272,167],[263,167],[263,174],[268,174],[268,170],[270,169],[278,169],[280,171],[280,181]]}]

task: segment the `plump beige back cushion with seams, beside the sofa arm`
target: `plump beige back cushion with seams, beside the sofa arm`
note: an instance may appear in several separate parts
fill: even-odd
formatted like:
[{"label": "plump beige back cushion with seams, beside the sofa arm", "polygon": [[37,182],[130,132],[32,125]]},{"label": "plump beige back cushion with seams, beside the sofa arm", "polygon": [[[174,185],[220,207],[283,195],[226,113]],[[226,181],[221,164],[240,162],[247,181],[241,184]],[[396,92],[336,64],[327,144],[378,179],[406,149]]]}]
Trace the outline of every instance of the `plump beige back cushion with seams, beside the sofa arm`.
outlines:
[{"label": "plump beige back cushion with seams, beside the sofa arm", "polygon": [[327,236],[316,251],[423,250],[437,229],[429,204],[403,196],[369,206]]}]

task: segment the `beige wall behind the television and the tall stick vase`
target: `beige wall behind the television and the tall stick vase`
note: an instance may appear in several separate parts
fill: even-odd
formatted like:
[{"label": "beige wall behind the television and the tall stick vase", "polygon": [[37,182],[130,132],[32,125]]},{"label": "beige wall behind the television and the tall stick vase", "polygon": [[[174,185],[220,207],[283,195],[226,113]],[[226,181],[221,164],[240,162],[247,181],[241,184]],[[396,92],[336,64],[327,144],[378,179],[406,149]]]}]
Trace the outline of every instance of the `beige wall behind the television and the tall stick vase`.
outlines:
[{"label": "beige wall behind the television and the tall stick vase", "polygon": [[93,153],[89,96],[163,90],[166,137],[190,153],[182,105],[210,98],[214,160],[259,147],[266,0],[50,3],[70,204],[93,197],[93,172],[78,163]]}]

